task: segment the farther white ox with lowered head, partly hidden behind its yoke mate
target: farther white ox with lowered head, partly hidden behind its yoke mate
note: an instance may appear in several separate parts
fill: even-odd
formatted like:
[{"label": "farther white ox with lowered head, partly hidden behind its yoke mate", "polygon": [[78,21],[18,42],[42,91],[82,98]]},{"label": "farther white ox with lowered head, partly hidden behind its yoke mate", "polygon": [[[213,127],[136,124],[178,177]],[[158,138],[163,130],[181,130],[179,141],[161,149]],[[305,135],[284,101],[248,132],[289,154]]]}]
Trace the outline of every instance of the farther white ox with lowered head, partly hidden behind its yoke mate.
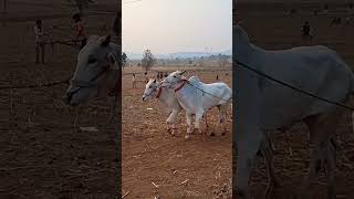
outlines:
[{"label": "farther white ox with lowered head, partly hidden behind its yoke mate", "polygon": [[[160,86],[159,82],[156,80],[150,78],[148,83],[145,85],[145,91],[143,94],[143,101],[147,102],[153,98],[157,98],[158,102],[167,108],[168,112],[170,112],[169,117],[167,118],[166,123],[168,125],[171,125],[171,135],[175,134],[176,124],[178,123],[178,114],[183,109],[180,106],[177,97],[175,96],[175,92],[168,87]],[[207,115],[205,115],[206,125],[208,127],[208,121]]]}]

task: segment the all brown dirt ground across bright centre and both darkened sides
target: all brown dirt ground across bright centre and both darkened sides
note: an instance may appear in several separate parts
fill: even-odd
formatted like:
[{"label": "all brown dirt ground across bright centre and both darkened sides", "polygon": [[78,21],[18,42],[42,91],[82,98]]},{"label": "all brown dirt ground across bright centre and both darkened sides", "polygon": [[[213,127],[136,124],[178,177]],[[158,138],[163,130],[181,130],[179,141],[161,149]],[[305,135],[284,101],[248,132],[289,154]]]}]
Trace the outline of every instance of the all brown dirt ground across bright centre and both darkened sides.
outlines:
[{"label": "all brown dirt ground across bright centre and both darkened sides", "polygon": [[[0,27],[0,86],[40,84],[70,76],[77,51],[59,45],[52,53],[48,48],[46,63],[35,64],[32,32],[33,20],[42,18],[53,38],[66,39],[71,31],[71,10],[59,0],[33,0],[33,4],[22,0],[12,2],[9,4],[10,22]],[[100,4],[96,11],[113,12],[113,3],[104,2],[106,4]],[[284,18],[281,15],[283,10],[280,4],[240,7],[242,23],[251,41],[266,49],[300,45],[301,22],[309,20],[315,29],[315,43],[331,46],[354,65],[353,24],[329,27],[331,17]],[[88,17],[90,33],[110,32],[113,17]],[[163,107],[156,102],[142,102],[144,84],[131,88],[131,72],[124,71],[123,78],[122,192],[127,193],[125,198],[230,198],[231,118],[226,136],[217,135],[202,142],[194,135],[186,142],[183,138],[185,115],[181,114],[179,134],[173,137],[165,130],[167,113]],[[194,75],[212,82],[216,73],[209,70]],[[231,86],[231,72],[228,76],[225,72],[219,73]],[[115,125],[106,124],[110,103],[97,100],[81,111],[76,126],[98,129],[83,132],[73,126],[75,109],[61,103],[65,88],[66,85],[0,90],[1,199],[111,199],[116,195],[121,163]],[[215,125],[216,111],[208,118]],[[275,189],[273,198],[294,195],[309,166],[311,143],[306,128],[296,125],[290,133],[290,143],[284,135],[273,136],[275,171],[281,179],[281,187]],[[336,135],[337,198],[351,199],[354,198],[354,137],[348,113]],[[289,156],[288,146],[292,147],[293,156]],[[266,186],[266,169],[260,158],[251,179],[252,192],[261,198]],[[313,188],[313,198],[325,198],[325,188],[322,176]]]}]

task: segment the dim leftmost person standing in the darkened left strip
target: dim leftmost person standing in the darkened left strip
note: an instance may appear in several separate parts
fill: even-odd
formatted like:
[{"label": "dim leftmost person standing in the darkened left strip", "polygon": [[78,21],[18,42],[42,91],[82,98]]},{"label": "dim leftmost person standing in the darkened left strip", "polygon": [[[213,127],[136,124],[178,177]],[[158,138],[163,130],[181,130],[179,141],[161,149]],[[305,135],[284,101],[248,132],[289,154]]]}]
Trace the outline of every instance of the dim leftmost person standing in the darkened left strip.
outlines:
[{"label": "dim leftmost person standing in the darkened left strip", "polygon": [[44,63],[44,31],[42,20],[35,20],[34,27],[35,34],[35,63],[40,63],[40,54],[42,55],[42,63]]}]

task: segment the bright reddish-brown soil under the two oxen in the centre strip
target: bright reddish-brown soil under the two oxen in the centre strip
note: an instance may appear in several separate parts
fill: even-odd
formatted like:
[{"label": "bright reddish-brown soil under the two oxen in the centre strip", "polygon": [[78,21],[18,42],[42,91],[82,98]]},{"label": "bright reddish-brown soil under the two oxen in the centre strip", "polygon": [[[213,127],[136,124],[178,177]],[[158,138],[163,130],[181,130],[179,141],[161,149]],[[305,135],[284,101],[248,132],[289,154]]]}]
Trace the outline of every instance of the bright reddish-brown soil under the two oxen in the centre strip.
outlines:
[{"label": "bright reddish-brown soil under the two oxen in the centre strip", "polygon": [[[219,74],[219,78],[231,86],[230,69],[220,72],[204,70],[207,71],[196,72],[201,81],[215,82],[216,74]],[[196,73],[190,72],[187,76]],[[143,75],[137,77],[144,81]],[[164,107],[156,100],[146,103],[142,101],[145,84],[140,82],[133,90],[132,75],[125,75],[123,82],[122,172],[123,193],[129,191],[126,198],[230,196],[231,116],[227,122],[227,135],[221,136],[221,132],[215,129],[218,116],[216,108],[208,113],[208,132],[215,130],[217,136],[201,140],[200,135],[192,135],[190,140],[185,140],[185,113],[179,116],[178,134],[171,136],[166,130],[168,113]]]}]

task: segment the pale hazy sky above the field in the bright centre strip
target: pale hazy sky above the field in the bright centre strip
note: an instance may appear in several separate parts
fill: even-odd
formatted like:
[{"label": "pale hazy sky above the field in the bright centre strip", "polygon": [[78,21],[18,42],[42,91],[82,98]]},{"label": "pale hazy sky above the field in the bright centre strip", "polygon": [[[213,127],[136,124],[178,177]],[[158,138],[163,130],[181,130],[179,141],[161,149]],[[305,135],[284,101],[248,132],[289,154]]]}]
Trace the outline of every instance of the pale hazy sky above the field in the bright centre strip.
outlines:
[{"label": "pale hazy sky above the field in the bright centre strip", "polygon": [[231,50],[231,0],[123,0],[123,50],[142,53]]}]

